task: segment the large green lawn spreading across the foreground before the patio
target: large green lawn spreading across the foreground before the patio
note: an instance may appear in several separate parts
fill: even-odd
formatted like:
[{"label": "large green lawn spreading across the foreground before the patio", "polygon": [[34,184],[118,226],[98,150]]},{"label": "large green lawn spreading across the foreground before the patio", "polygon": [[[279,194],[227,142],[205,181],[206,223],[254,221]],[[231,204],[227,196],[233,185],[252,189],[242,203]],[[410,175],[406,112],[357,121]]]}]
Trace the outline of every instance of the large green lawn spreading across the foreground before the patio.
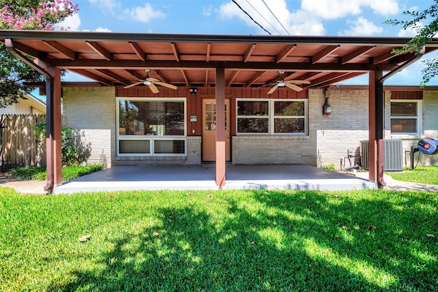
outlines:
[{"label": "large green lawn spreading across the foreground before the patio", "polygon": [[0,188],[0,291],[438,291],[437,211],[413,191]]}]

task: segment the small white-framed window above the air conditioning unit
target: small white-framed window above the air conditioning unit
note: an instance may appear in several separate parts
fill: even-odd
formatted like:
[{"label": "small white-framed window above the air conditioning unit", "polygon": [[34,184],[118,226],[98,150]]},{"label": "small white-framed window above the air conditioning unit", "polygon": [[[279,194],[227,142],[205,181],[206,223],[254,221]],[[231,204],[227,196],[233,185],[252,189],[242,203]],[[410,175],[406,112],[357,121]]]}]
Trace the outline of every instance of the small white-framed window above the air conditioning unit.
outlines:
[{"label": "small white-framed window above the air conditioning unit", "polygon": [[391,135],[421,134],[420,100],[391,100]]}]

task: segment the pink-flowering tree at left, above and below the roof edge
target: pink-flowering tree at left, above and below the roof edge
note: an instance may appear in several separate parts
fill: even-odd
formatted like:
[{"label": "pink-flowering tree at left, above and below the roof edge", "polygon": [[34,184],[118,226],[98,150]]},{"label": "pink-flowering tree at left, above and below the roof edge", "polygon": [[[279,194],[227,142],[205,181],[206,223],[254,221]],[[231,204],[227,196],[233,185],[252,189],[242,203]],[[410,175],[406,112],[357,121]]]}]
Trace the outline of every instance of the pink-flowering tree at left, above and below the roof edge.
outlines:
[{"label": "pink-flowering tree at left, above and below the roof edge", "polygon": [[[70,0],[0,0],[0,29],[53,30],[77,10]],[[30,93],[24,81],[43,78],[11,55],[4,44],[0,44],[0,59],[0,107],[6,107]]]}]

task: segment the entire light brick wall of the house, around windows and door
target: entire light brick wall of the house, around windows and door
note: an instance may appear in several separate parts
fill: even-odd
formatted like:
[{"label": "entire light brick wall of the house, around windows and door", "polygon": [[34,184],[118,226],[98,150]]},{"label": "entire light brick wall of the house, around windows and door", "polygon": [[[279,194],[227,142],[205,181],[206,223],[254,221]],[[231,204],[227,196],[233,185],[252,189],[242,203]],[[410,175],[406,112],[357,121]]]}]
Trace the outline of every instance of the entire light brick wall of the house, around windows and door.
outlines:
[{"label": "entire light brick wall of the house, around windows and door", "polygon": [[[90,144],[88,162],[106,159],[108,167],[116,164],[199,164],[201,136],[187,137],[187,157],[116,157],[116,98],[114,88],[64,88],[63,124],[81,131],[83,142]],[[341,168],[348,150],[360,161],[360,141],[368,140],[368,90],[322,90],[308,92],[308,136],[233,136],[234,164],[302,163]],[[333,111],[322,114],[326,96]],[[418,137],[391,136],[391,92],[385,91],[385,137],[403,139],[403,150],[425,136],[438,137],[438,92],[425,91],[423,99],[423,134]],[[234,105],[235,103],[231,103]],[[202,116],[201,108],[191,114]],[[234,112],[233,110],[231,111]],[[231,120],[235,116],[231,116]],[[190,130],[190,129],[189,129]],[[438,155],[422,155],[422,164],[437,163]],[[409,157],[407,162],[409,163]],[[348,164],[346,166],[349,166]]]}]

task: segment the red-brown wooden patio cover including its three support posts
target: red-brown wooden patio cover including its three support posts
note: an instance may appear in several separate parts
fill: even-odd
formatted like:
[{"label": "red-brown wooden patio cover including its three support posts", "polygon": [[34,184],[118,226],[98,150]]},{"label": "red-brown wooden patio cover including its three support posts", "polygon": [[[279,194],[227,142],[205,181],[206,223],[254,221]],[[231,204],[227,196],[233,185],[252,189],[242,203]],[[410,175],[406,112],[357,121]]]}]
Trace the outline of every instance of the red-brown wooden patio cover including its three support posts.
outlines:
[{"label": "red-brown wooden patio cover including its three support posts", "polygon": [[[305,88],[369,74],[370,181],[383,181],[383,81],[420,56],[394,54],[409,38],[344,36],[237,36],[198,34],[129,34],[70,31],[5,31],[3,42],[16,57],[47,77],[47,189],[62,184],[60,68],[93,79],[101,86],[129,85],[150,77],[177,86],[215,87],[223,104],[224,88],[257,87],[285,80],[310,81]],[[424,48],[438,48],[432,40]],[[383,72],[390,71],[383,76]],[[217,109],[217,127],[224,113]],[[216,137],[216,183],[225,180],[224,133]]]}]

